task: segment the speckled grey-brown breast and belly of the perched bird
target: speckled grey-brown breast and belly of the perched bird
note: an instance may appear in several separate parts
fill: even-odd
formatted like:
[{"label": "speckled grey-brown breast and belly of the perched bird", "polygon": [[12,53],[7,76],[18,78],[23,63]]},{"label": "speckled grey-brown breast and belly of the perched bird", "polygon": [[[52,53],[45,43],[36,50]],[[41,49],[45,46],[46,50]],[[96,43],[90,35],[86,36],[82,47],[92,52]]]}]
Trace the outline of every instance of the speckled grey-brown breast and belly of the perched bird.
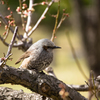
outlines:
[{"label": "speckled grey-brown breast and belly of the perched bird", "polygon": [[48,53],[48,52],[41,52],[40,54],[35,53],[31,57],[32,58],[29,67],[37,69],[38,71],[42,71],[51,64],[53,60],[53,53]]}]

